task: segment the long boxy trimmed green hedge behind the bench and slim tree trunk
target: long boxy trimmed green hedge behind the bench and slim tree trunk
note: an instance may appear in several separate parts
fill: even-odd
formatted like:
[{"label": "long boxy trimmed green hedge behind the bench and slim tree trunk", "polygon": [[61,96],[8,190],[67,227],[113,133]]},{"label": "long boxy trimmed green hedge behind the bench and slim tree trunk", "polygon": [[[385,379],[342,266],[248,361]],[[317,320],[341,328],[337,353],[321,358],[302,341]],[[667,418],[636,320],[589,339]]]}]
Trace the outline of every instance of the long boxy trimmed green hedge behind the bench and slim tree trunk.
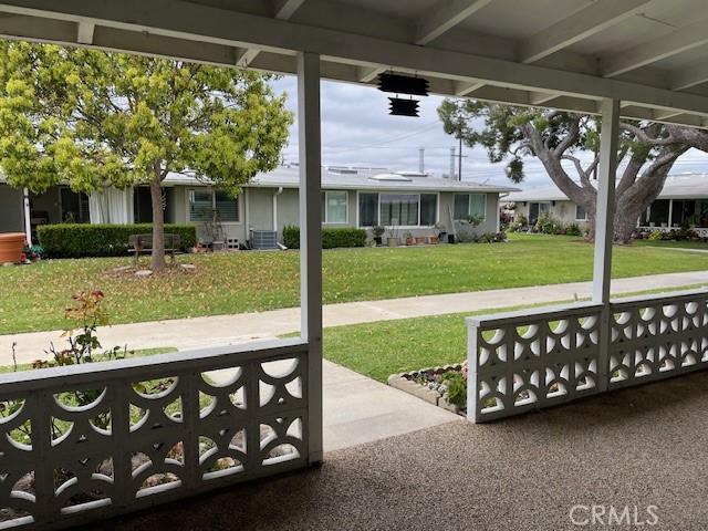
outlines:
[{"label": "long boxy trimmed green hedge behind the bench and slim tree trunk", "polygon": [[[152,223],[60,223],[37,228],[46,258],[123,257],[128,252],[131,235],[152,232]],[[179,235],[183,251],[197,242],[197,229],[192,225],[165,225],[165,232]]]}]

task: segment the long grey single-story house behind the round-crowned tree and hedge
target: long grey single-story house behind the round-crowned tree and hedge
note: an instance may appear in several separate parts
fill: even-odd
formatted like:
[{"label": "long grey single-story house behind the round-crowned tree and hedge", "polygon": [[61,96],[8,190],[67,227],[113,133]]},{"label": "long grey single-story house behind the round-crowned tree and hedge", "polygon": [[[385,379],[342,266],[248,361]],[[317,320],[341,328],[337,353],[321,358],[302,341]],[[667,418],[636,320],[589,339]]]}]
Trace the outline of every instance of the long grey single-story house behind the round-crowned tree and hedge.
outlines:
[{"label": "long grey single-story house behind the round-crowned tree and hedge", "polygon": [[[277,231],[282,241],[283,227],[299,222],[298,187],[296,165],[257,175],[236,199],[205,179],[170,174],[164,183],[165,221],[195,223],[199,232],[205,217],[216,211],[227,247],[250,241],[257,230]],[[323,167],[322,188],[324,227],[383,226],[395,228],[399,237],[406,232],[430,236],[436,226],[449,231],[454,219],[471,215],[482,218],[477,231],[498,231],[500,195],[516,190],[355,167]],[[25,231],[28,218],[34,230],[41,223],[137,223],[150,222],[153,217],[149,189],[144,186],[91,195],[55,186],[42,195],[28,194],[27,199],[23,190],[0,184],[0,231]]]}]

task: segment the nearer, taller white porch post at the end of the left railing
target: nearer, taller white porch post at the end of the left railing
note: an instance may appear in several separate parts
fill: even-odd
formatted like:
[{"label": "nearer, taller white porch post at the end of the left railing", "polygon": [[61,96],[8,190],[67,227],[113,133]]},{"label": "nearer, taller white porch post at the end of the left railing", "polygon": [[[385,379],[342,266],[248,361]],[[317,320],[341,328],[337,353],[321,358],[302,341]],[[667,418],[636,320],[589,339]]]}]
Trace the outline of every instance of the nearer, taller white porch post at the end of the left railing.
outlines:
[{"label": "nearer, taller white porch post at the end of the left railing", "polygon": [[298,53],[301,335],[308,354],[308,461],[322,461],[322,227],[320,55]]}]

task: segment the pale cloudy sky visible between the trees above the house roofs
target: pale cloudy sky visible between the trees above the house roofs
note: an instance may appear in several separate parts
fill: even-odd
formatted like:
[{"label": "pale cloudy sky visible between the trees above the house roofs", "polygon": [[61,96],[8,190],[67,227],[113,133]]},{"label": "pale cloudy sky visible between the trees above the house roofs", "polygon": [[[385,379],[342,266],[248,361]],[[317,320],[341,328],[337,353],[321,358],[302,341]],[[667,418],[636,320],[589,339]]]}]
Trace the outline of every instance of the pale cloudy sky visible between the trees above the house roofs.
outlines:
[{"label": "pale cloudy sky visible between the trees above the house roofs", "polygon": [[[283,76],[273,82],[288,94],[288,106],[296,112],[296,80]],[[440,96],[420,98],[417,118],[388,115],[387,95],[375,88],[348,83],[322,83],[322,162],[325,165],[386,167],[417,170],[418,148],[425,148],[425,169],[441,176],[449,173],[450,147],[455,139],[445,134],[436,108]],[[462,179],[506,185],[504,164],[490,164],[483,149],[462,149]],[[293,124],[284,152],[287,162],[298,160],[298,125]],[[523,188],[549,186],[540,164],[525,162]],[[688,152],[674,166],[673,174],[708,171],[708,155]]]}]

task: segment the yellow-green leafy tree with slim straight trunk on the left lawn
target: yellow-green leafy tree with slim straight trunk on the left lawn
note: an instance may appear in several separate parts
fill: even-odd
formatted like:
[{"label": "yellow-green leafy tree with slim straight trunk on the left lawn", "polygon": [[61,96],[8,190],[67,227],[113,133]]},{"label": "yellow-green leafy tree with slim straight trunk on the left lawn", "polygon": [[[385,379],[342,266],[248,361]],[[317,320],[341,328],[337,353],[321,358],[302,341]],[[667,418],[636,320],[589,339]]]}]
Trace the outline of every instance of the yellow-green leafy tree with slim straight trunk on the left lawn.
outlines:
[{"label": "yellow-green leafy tree with slim straight trunk on the left lawn", "polygon": [[12,186],[90,192],[148,185],[152,268],[165,267],[162,186],[208,178],[236,197],[272,170],[292,115],[259,73],[0,42],[0,167]]}]

